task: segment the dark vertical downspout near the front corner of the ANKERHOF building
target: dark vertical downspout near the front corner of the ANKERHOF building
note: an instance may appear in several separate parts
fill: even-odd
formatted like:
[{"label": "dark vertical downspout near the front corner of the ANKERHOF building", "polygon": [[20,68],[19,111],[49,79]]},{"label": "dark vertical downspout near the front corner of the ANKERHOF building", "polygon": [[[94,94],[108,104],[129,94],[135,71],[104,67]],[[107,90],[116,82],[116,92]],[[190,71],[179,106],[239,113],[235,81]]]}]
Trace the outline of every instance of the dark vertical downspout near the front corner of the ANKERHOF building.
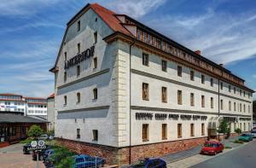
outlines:
[{"label": "dark vertical downspout near the front corner of the ANKERHOF building", "polygon": [[134,41],[130,44],[129,55],[130,55],[130,145],[129,145],[129,165],[131,165],[131,47],[134,45]]}]

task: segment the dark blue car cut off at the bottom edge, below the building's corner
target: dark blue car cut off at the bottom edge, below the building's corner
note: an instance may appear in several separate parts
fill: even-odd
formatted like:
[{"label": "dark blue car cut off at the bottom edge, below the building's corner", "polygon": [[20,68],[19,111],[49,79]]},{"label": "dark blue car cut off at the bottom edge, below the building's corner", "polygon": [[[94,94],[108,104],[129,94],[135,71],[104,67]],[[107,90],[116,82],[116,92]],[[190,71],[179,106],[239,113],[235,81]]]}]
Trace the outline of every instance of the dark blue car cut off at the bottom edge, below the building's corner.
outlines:
[{"label": "dark blue car cut off at the bottom edge, below the building's corner", "polygon": [[166,161],[163,159],[142,159],[138,160],[137,163],[129,166],[129,168],[166,168]]}]

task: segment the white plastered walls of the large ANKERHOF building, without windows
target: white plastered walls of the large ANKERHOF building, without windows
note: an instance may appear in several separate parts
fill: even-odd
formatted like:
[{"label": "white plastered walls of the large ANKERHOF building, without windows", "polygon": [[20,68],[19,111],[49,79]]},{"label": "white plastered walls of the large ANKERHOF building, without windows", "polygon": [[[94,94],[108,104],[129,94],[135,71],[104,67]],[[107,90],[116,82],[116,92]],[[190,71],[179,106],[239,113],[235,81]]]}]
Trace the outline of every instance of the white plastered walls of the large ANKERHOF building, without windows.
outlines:
[{"label": "white plastered walls of the large ANKERHOF building, without windows", "polygon": [[[78,25],[81,26],[79,30]],[[136,43],[131,46],[130,53],[130,43],[127,41],[118,39],[107,43],[103,40],[112,33],[113,30],[93,9],[84,11],[67,27],[55,65],[55,136],[112,147],[170,142],[207,136],[210,119],[218,115],[236,118],[236,128],[241,125],[241,130],[250,130],[253,115],[252,91],[221,79],[218,81],[214,75],[178,64],[167,56],[156,55],[153,47],[151,50],[143,49]],[[78,44],[81,52],[94,45],[95,53],[65,70],[65,53],[69,61],[78,54]],[[143,53],[148,54],[148,66],[143,65]],[[166,72],[161,69],[162,60],[167,61]],[[79,75],[77,66],[80,67]],[[182,67],[182,77],[177,76],[177,66]],[[195,72],[194,81],[190,80],[191,70]],[[201,74],[205,75],[205,84],[201,84]],[[223,83],[223,89],[219,89],[218,82]],[[143,100],[143,83],[149,87],[148,101]],[[162,87],[167,89],[167,102],[161,101]],[[177,103],[177,90],[182,91],[182,104]],[[195,106],[190,105],[191,93],[195,96]],[[201,107],[201,96],[205,97],[205,107]],[[221,100],[223,108],[218,106]],[[137,119],[136,113],[150,113],[153,117]],[[167,114],[167,117],[156,119],[155,115],[159,114]],[[171,119],[169,114],[177,114],[179,118]],[[182,115],[190,115],[191,119],[182,119]],[[200,119],[193,119],[193,115]],[[143,141],[143,124],[148,124],[148,141]],[[161,135],[162,124],[167,125],[167,137],[164,140]],[[177,124],[182,124],[181,137],[177,137]],[[190,134],[191,124],[195,125],[194,136]],[[202,124],[205,125],[203,135]],[[234,122],[230,126],[231,132],[234,132]],[[98,132],[97,140],[94,130]]]}]

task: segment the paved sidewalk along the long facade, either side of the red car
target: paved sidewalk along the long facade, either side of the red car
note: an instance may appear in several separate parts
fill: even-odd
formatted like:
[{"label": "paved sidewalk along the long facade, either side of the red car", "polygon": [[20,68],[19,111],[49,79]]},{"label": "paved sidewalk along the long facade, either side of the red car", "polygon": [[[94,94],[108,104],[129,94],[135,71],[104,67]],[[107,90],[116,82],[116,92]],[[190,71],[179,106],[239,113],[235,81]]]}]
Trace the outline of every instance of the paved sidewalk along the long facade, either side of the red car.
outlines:
[{"label": "paved sidewalk along the long facade, either side of the red car", "polygon": [[[241,144],[239,144],[239,143],[233,143],[233,141],[236,140],[236,138],[237,138],[237,136],[231,137],[230,139],[225,139],[221,142],[224,143],[224,146],[226,146],[226,147],[229,146],[231,148],[236,148],[238,146],[241,146]],[[201,151],[201,147],[202,147],[202,145],[199,145],[195,148],[190,148],[188,150],[180,151],[175,154],[167,154],[166,156],[161,157],[161,159],[164,159],[166,161],[166,163],[172,163],[177,160],[185,159],[185,158],[188,158],[195,154],[199,154]]]}]

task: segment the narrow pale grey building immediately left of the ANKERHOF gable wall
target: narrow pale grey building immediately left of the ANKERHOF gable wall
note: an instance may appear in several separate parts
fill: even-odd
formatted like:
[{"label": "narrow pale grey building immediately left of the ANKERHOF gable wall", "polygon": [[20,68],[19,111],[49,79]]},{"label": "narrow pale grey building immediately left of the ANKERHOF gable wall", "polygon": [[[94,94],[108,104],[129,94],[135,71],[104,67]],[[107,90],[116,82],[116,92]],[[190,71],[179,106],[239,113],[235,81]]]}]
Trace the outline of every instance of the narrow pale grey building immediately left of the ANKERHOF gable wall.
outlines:
[{"label": "narrow pale grey building immediately left of the ANKERHOF gable wall", "polygon": [[47,130],[55,129],[55,94],[53,93],[47,98]]}]

